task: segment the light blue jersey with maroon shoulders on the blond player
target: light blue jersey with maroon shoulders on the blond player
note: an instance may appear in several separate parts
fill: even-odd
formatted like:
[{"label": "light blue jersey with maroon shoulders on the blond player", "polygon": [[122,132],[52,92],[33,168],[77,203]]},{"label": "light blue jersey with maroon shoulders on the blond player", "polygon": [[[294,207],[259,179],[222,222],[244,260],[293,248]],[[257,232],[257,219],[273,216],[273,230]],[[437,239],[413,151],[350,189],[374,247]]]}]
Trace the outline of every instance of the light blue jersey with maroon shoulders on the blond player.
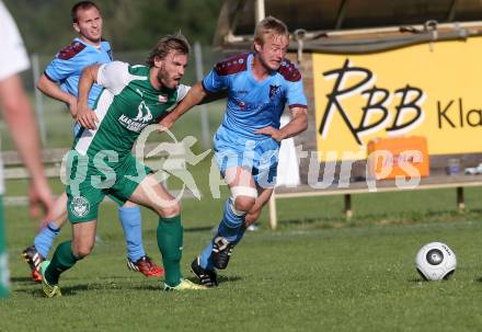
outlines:
[{"label": "light blue jersey with maroon shoulders on the blond player", "polygon": [[279,128],[285,105],[307,107],[301,73],[284,59],[277,71],[257,81],[251,71],[253,54],[241,54],[223,60],[204,78],[207,92],[228,90],[228,105],[221,127],[241,139],[266,139],[255,134],[266,126]]}]

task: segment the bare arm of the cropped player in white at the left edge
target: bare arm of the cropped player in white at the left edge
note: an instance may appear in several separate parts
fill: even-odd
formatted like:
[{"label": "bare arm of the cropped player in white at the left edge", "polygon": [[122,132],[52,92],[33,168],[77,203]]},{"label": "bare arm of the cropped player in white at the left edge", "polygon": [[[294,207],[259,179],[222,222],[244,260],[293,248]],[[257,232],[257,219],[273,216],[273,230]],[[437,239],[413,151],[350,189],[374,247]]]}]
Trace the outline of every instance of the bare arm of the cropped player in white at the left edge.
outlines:
[{"label": "bare arm of the cropped player in white at the left edge", "polygon": [[48,211],[54,201],[42,164],[38,130],[31,104],[18,75],[0,81],[0,101],[3,118],[32,178],[30,187],[31,215],[35,216],[41,206],[45,211]]}]

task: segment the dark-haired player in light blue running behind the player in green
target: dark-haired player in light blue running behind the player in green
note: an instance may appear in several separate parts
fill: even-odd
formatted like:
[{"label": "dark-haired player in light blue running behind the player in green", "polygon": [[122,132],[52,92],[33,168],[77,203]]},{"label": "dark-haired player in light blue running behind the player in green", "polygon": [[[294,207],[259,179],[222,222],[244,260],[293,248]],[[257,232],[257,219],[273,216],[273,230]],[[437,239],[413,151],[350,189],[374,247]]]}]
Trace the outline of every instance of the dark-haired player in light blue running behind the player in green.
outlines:
[{"label": "dark-haired player in light blue running behind the player in green", "polygon": [[[66,103],[70,114],[77,115],[78,83],[82,70],[91,65],[112,61],[108,42],[102,39],[102,15],[99,7],[91,1],[76,3],[71,10],[73,28],[79,34],[73,42],[62,48],[51,60],[37,83],[46,95]],[[101,93],[102,87],[94,84],[89,93],[89,106]],[[74,135],[80,126],[76,123]],[[117,202],[119,203],[119,202]],[[152,263],[142,245],[140,208],[134,203],[125,203],[118,208],[118,217],[127,242],[127,266],[146,276],[160,277],[163,271]],[[55,238],[67,220],[67,195],[64,193],[56,202],[55,215],[35,237],[34,244],[26,248],[22,255],[32,270],[32,278],[41,281],[39,264],[47,257]]]}]

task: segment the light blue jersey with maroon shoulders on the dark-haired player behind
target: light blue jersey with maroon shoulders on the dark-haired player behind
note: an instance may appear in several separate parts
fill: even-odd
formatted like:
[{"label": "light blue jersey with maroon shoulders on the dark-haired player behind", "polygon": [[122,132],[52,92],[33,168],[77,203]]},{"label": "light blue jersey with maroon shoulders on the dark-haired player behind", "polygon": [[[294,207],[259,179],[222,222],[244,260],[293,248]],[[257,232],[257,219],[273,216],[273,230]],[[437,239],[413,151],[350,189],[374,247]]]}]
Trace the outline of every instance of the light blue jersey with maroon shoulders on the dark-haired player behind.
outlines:
[{"label": "light blue jersey with maroon shoulders on the dark-haired player behind", "polygon": [[[60,89],[77,96],[82,70],[92,65],[112,61],[111,45],[102,41],[100,48],[89,45],[80,38],[64,47],[45,69],[45,76],[60,84]],[[102,87],[94,83],[89,93],[89,106],[94,105]]]}]

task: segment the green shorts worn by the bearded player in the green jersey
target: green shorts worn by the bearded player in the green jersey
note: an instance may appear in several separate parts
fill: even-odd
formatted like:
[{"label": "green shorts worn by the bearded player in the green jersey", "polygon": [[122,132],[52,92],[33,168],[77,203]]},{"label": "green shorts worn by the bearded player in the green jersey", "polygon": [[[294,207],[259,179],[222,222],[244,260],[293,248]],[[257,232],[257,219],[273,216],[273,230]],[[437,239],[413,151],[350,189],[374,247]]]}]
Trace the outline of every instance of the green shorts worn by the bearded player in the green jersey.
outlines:
[{"label": "green shorts worn by the bearded player in the green jersey", "polygon": [[[85,158],[82,160],[82,158]],[[97,219],[99,204],[108,195],[123,205],[151,169],[128,154],[116,163],[96,164],[74,156],[67,185],[67,213],[72,224]]]}]

